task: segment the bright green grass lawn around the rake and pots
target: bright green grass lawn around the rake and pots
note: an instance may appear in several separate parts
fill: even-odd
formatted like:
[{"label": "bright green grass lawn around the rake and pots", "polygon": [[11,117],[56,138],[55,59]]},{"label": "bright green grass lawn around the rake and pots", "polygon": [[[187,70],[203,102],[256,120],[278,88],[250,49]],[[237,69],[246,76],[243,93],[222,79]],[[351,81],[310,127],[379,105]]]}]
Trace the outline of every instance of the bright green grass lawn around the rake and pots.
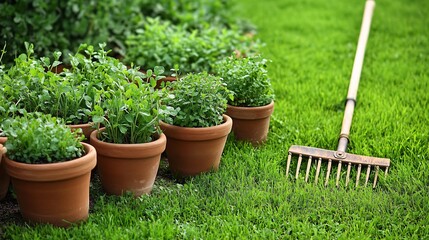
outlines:
[{"label": "bright green grass lawn around the rake and pots", "polygon": [[[91,190],[87,222],[70,229],[1,226],[12,239],[429,238],[429,1],[377,2],[349,152],[390,158],[378,187],[287,180],[293,144],[335,149],[364,1],[240,0],[272,59],[269,141],[229,139],[218,172],[159,178],[134,199]],[[168,175],[162,164],[160,175]],[[332,177],[334,178],[334,177]],[[344,182],[344,178],[343,178]]]}]

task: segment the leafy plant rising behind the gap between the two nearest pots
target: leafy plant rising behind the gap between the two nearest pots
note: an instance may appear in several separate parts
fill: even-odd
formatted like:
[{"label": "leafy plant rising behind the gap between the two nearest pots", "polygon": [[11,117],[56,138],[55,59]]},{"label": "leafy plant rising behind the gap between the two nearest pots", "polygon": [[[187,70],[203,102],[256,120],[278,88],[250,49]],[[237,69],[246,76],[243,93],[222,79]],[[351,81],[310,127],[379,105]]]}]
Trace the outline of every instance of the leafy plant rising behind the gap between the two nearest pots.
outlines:
[{"label": "leafy plant rising behind the gap between the two nearest pots", "polygon": [[56,92],[56,106],[68,113],[72,123],[91,122],[94,107],[112,97],[109,91],[128,84],[131,73],[140,74],[108,56],[110,50],[105,47],[105,43],[98,49],[82,44],[76,54],[69,56],[71,67],[63,73],[64,84]]}]

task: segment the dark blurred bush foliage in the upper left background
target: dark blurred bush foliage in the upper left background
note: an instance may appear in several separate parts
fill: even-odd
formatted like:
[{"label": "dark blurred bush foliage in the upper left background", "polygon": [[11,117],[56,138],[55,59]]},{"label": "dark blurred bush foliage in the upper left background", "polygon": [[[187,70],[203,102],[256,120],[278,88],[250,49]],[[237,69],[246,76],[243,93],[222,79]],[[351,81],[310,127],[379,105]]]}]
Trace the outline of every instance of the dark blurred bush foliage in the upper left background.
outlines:
[{"label": "dark blurred bush foliage in the upper left background", "polygon": [[0,3],[0,42],[7,43],[4,63],[10,65],[32,42],[37,57],[52,50],[75,52],[82,42],[107,42],[115,50],[123,48],[125,36],[141,26],[143,14],[138,1],[124,0],[20,0]]}]

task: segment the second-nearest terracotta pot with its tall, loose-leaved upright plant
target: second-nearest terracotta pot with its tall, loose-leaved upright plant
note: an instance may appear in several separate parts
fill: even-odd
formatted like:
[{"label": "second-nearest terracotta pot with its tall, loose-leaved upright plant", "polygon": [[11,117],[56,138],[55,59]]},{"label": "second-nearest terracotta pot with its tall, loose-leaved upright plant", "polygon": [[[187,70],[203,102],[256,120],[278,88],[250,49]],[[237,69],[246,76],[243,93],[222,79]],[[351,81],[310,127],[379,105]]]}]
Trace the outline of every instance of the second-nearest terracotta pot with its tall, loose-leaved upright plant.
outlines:
[{"label": "second-nearest terracotta pot with its tall, loose-leaved upright plant", "polygon": [[[155,71],[155,75],[160,74]],[[104,127],[98,127],[90,138],[97,149],[104,190],[108,194],[130,191],[140,196],[151,192],[166,146],[166,137],[159,128],[161,116],[168,111],[161,105],[166,89],[153,88],[158,79],[153,79],[152,71],[145,80],[136,72],[125,77],[121,89],[110,91],[110,98],[95,107],[93,120]],[[146,78],[152,78],[151,85]]]}]

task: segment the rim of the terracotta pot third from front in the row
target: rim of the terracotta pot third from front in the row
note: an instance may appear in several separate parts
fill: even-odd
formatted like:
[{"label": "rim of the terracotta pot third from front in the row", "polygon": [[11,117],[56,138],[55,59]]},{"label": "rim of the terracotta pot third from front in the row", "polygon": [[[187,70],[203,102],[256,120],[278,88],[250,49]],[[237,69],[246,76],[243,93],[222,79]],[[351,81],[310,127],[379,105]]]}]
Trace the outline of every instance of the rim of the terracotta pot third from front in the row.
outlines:
[{"label": "rim of the terracotta pot third from front in the row", "polygon": [[222,114],[224,122],[212,127],[180,127],[160,121],[162,131],[168,138],[188,141],[206,141],[222,138],[228,135],[232,129],[232,119]]}]

